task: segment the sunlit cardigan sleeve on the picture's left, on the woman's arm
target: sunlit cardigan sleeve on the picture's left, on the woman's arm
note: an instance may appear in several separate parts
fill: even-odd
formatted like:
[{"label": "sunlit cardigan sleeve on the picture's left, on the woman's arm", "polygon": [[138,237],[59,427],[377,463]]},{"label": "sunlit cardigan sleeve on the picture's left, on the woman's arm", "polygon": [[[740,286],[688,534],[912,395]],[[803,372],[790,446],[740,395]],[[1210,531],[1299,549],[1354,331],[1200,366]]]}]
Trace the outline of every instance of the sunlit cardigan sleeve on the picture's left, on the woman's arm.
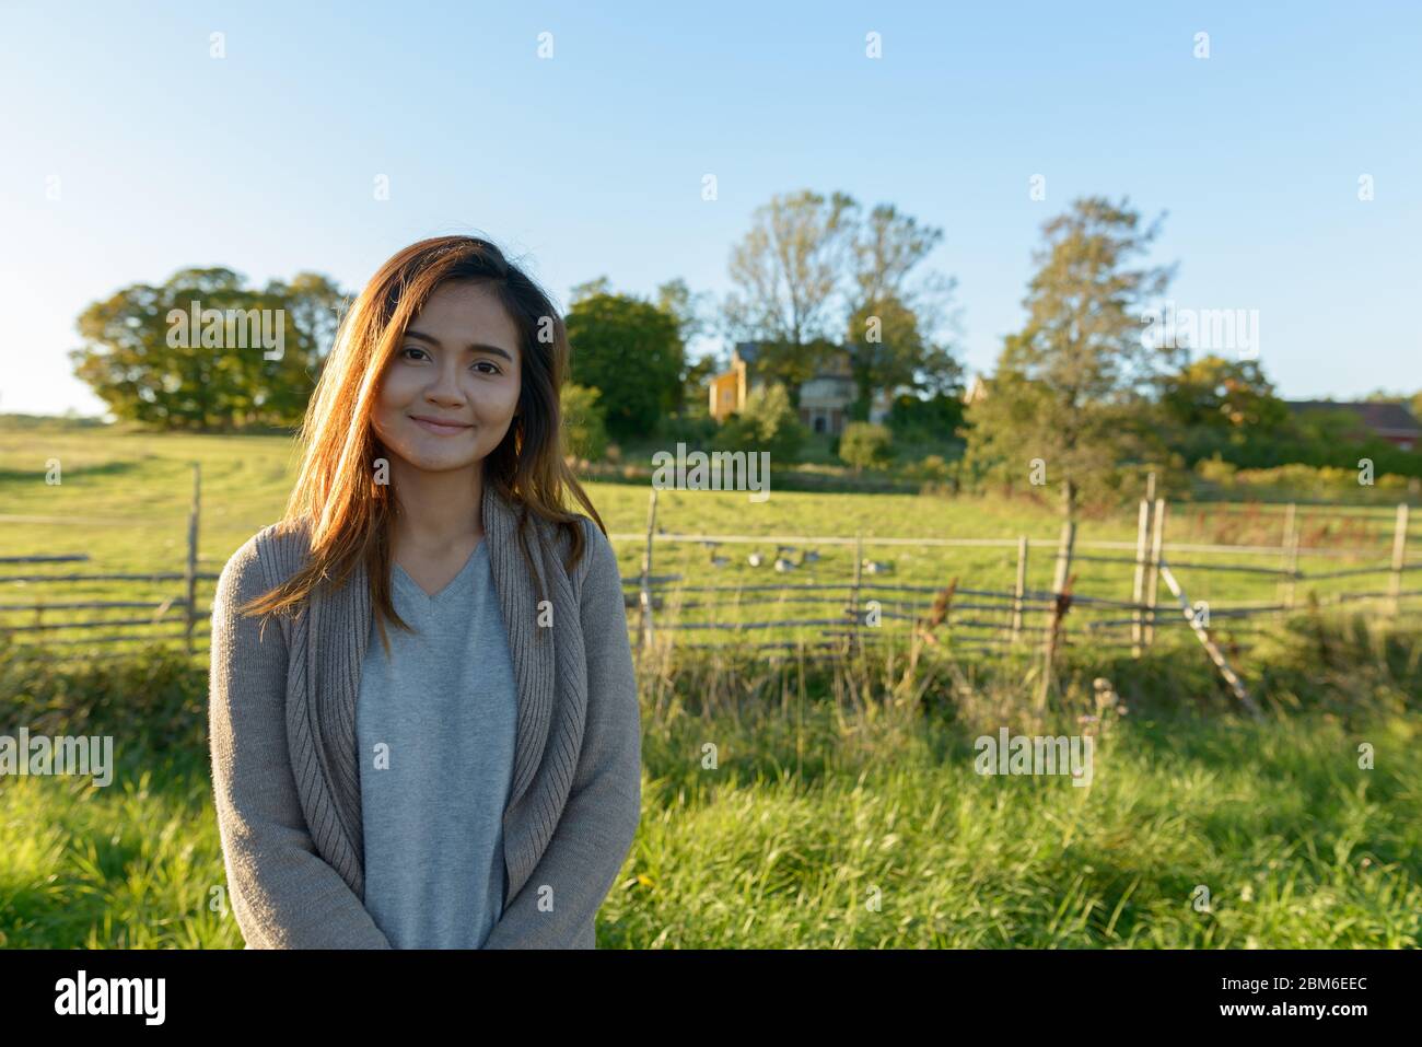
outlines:
[{"label": "sunlit cardigan sleeve on the picture's left, on the woman's arm", "polygon": [[237,612],[272,588],[263,575],[252,538],[212,600],[208,728],[232,912],[249,949],[390,949],[307,829],[286,741],[282,623]]}]

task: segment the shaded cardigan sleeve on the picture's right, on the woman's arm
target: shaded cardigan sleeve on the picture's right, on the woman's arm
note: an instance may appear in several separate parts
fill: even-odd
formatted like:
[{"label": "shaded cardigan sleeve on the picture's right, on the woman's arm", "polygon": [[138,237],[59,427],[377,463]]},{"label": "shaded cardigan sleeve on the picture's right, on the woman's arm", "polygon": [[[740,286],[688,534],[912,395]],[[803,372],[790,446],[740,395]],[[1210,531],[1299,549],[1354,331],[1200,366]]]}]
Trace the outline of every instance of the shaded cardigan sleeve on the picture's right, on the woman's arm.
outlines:
[{"label": "shaded cardigan sleeve on the picture's right, on the woman's arm", "polygon": [[641,819],[641,711],[621,575],[607,536],[584,521],[589,566],[579,612],[587,714],[577,768],[543,856],[501,913],[485,949],[594,949],[597,908]]}]

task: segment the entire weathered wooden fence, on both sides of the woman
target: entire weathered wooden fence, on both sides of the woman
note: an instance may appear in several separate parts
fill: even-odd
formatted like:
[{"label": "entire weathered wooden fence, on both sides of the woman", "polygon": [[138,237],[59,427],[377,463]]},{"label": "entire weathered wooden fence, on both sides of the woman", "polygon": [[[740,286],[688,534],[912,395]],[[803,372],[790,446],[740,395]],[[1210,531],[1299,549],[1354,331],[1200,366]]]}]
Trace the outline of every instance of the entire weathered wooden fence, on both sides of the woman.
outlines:
[{"label": "entire weathered wooden fence, on both sides of the woman", "polygon": [[[68,657],[65,649],[73,650],[73,657],[85,660],[101,657],[118,657],[119,653],[94,653],[100,644],[119,644],[132,642],[171,640],[181,637],[189,654],[199,654],[206,647],[199,647],[198,640],[208,637],[208,620],[210,607],[199,606],[199,583],[216,582],[218,572],[199,570],[202,556],[199,555],[199,514],[202,501],[202,482],[198,467],[193,467],[192,505],[186,521],[186,555],[181,570],[156,573],[102,573],[102,572],[70,572],[70,573],[37,573],[16,572],[0,575],[0,583],[9,585],[77,585],[85,582],[131,582],[164,585],[169,582],[181,583],[176,592],[161,599],[135,600],[33,600],[33,602],[0,602],[0,632],[20,647],[41,650],[47,657],[64,660]],[[1258,545],[1209,545],[1209,543],[1173,543],[1165,541],[1167,504],[1162,498],[1146,498],[1140,502],[1138,516],[1138,535],[1135,542],[1122,541],[1094,541],[1076,539],[1075,526],[1064,525],[1055,541],[1032,539],[1025,535],[1015,538],[869,538],[855,536],[825,536],[825,535],[693,535],[665,533],[657,526],[657,491],[651,489],[647,528],[636,533],[613,533],[614,541],[634,541],[641,548],[641,566],[636,575],[623,579],[623,585],[633,589],[627,593],[627,606],[637,612],[633,623],[634,642],[638,649],[653,643],[658,632],[671,636],[707,632],[732,634],[769,630],[769,629],[813,629],[819,639],[806,643],[815,650],[840,650],[845,642],[863,646],[886,636],[883,623],[890,623],[887,632],[894,632],[892,623],[906,623],[904,629],[927,642],[939,643],[939,630],[947,630],[954,650],[963,652],[1012,652],[1032,650],[1041,644],[1044,660],[1042,687],[1051,680],[1051,667],[1057,653],[1064,647],[1078,646],[1089,642],[1101,647],[1129,647],[1132,654],[1140,657],[1142,653],[1155,643],[1158,629],[1167,626],[1189,627],[1199,639],[1210,659],[1220,667],[1226,680],[1230,680],[1233,670],[1229,657],[1246,649],[1231,639],[1221,649],[1217,637],[1212,634],[1212,622],[1227,623],[1249,622],[1250,619],[1277,616],[1288,613],[1297,603],[1297,582],[1321,580],[1335,578],[1352,578],[1367,575],[1384,575],[1385,589],[1362,590],[1349,593],[1334,593],[1321,597],[1321,602],[1351,602],[1351,600],[1384,600],[1389,613],[1396,615],[1406,600],[1422,595],[1416,590],[1404,589],[1404,576],[1416,570],[1422,563],[1406,562],[1408,543],[1408,506],[1399,505],[1394,521],[1394,541],[1391,556],[1386,563],[1364,568],[1344,568],[1335,570],[1301,570],[1301,558],[1338,558],[1358,556],[1359,551],[1349,549],[1313,549],[1300,548],[1300,529],[1294,506],[1287,506],[1284,512],[1284,531],[1281,543],[1277,546]],[[775,585],[681,585],[680,575],[656,575],[656,548],[658,543],[700,542],[712,549],[721,545],[803,545],[803,546],[853,546],[852,576],[842,582],[793,585],[789,582]],[[1014,549],[1017,553],[1015,585],[1011,589],[984,589],[958,585],[958,578],[946,579],[943,585],[896,585],[875,573],[875,563],[866,560],[863,551],[866,543],[884,548],[943,548],[943,549]],[[1034,549],[1051,548],[1055,552],[1054,580],[1049,589],[1034,590],[1027,585],[1028,559]],[[1105,555],[1129,553],[1129,555]],[[1190,559],[1192,555],[1246,555],[1277,558],[1278,566],[1261,565],[1231,565],[1204,563]],[[34,568],[50,565],[87,563],[87,553],[44,555],[44,556],[0,556],[0,570],[14,570],[17,568]],[[1085,595],[1075,592],[1074,563],[1099,562],[1119,563],[1132,568],[1130,599],[1115,599],[1106,595]],[[1324,565],[1327,566],[1327,565]],[[1249,572],[1264,576],[1274,576],[1280,580],[1278,597],[1264,603],[1239,603],[1236,606],[1214,606],[1207,615],[1200,613],[1197,605],[1192,605],[1185,593],[1180,575],[1189,572]],[[1170,589],[1175,602],[1179,603],[1180,615],[1162,613],[1159,583]],[[809,605],[833,607],[838,612],[816,617],[776,619],[762,617],[759,620],[737,622],[683,622],[664,617],[660,612],[670,607],[667,597],[675,593],[708,595],[712,602],[690,603],[681,600],[680,610],[691,610],[705,606],[721,606],[715,603],[717,593],[735,593],[735,605],[755,606],[774,603]],[[933,599],[929,599],[929,597]],[[135,612],[132,616],[73,619],[73,612],[101,610]],[[55,619],[54,615],[61,617]],[[21,616],[16,620],[11,616]],[[1075,632],[1066,629],[1068,622],[1079,623]],[[164,627],[169,627],[164,632]],[[63,633],[77,633],[77,637],[55,639]],[[1231,625],[1231,633],[1239,633],[1239,627]],[[28,637],[40,640],[38,644],[26,644]],[[691,647],[722,646],[721,643],[678,643]],[[758,643],[764,649],[789,649],[805,643],[803,639],[776,640]],[[1237,676],[1236,676],[1237,681]],[[1231,681],[1231,687],[1236,686]],[[1236,690],[1240,700],[1251,704],[1240,686]]]}]

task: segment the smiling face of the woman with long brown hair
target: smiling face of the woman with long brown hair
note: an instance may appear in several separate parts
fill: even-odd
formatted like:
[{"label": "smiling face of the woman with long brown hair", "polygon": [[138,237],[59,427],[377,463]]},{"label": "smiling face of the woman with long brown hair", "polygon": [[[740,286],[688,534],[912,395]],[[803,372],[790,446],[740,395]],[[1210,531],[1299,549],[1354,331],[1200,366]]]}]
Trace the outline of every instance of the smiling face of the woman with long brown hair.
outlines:
[{"label": "smiling face of the woman with long brown hair", "polygon": [[375,434],[427,472],[481,462],[518,411],[519,366],[519,333],[498,299],[482,285],[445,283],[387,364],[371,417]]}]

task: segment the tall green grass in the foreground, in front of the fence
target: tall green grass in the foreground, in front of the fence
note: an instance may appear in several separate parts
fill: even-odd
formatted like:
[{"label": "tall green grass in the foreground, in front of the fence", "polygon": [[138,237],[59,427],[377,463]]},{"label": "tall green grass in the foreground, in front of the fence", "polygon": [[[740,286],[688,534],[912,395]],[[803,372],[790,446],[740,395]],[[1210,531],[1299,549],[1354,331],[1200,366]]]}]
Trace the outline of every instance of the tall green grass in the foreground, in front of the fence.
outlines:
[{"label": "tall green grass in the foreground, in front of the fence", "polygon": [[[1301,616],[1249,669],[1260,721],[1193,640],[1071,652],[1045,710],[1030,656],[651,647],[643,821],[600,945],[1418,946],[1422,634]],[[0,644],[0,733],[114,734],[119,762],[107,788],[0,778],[0,945],[240,946],[205,701],[173,654]],[[978,775],[1000,727],[1091,734],[1091,784]]]}]

